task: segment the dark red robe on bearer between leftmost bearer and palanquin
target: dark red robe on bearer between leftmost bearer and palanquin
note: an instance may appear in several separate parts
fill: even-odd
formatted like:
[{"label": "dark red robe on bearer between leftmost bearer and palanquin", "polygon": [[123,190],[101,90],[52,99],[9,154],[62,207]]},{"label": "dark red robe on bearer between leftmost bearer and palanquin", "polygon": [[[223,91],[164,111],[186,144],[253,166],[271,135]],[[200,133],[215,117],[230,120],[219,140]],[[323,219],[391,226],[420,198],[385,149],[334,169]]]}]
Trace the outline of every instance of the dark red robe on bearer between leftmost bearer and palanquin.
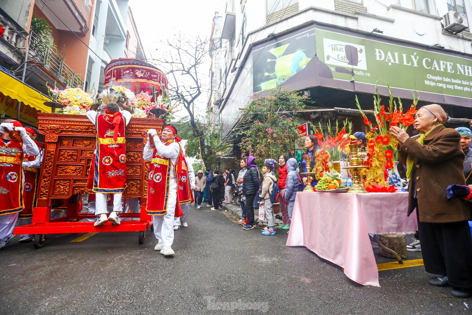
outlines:
[{"label": "dark red robe on bearer between leftmost bearer and palanquin", "polygon": [[[36,156],[25,154],[23,162],[32,162],[36,159]],[[40,169],[36,168],[23,168],[25,172],[25,188],[24,188],[24,203],[25,208],[18,215],[18,219],[31,219],[33,218],[33,208],[36,206],[36,191],[38,188]]]}]

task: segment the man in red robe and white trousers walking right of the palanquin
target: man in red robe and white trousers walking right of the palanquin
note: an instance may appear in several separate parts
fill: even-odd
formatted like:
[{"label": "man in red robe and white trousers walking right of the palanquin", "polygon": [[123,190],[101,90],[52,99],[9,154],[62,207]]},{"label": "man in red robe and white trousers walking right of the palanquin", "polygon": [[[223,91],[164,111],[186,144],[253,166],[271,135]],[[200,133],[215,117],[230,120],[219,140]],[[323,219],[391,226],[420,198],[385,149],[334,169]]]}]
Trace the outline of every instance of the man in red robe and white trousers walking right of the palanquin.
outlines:
[{"label": "man in red robe and white trousers walking right of the palanquin", "polygon": [[[154,141],[154,149],[150,138]],[[146,211],[153,216],[154,235],[158,240],[154,250],[160,250],[166,256],[175,255],[171,247],[174,242],[174,217],[182,216],[177,182],[182,180],[182,165],[185,163],[177,129],[167,125],[162,129],[160,138],[155,129],[149,129],[143,159],[151,162]]]}]

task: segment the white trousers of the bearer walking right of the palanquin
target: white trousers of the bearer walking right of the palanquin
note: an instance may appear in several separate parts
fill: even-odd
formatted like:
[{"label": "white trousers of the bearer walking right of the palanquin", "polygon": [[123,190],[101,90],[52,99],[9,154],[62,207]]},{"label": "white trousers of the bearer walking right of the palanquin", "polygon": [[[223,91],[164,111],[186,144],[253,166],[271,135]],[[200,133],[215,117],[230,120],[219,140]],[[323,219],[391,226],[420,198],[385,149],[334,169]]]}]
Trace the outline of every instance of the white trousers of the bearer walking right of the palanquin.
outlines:
[{"label": "white trousers of the bearer walking right of the palanquin", "polygon": [[153,215],[154,235],[162,246],[171,246],[174,242],[174,214],[177,203],[177,182],[170,179],[169,199],[167,202],[167,213],[164,215]]}]

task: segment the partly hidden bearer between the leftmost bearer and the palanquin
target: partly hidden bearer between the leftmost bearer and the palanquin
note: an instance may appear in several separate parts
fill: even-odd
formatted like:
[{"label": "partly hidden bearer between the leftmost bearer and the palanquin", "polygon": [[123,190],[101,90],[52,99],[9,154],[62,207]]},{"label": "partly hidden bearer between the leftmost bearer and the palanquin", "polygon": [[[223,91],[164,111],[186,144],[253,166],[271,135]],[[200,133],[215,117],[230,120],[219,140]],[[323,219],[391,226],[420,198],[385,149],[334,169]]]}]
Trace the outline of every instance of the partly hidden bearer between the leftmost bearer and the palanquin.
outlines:
[{"label": "partly hidden bearer between the leftmost bearer and the palanquin", "polygon": [[[26,134],[33,140],[36,140],[38,131],[34,127],[25,127]],[[36,141],[35,141],[36,142]],[[36,144],[39,144],[36,142]],[[33,219],[33,208],[36,206],[36,191],[38,189],[39,174],[42,164],[42,147],[38,145],[39,154],[23,155],[23,171],[25,172],[24,200],[25,208],[18,214],[18,225],[31,224]],[[52,211],[51,211],[52,213]],[[20,235],[18,242],[23,243],[34,238],[34,234]]]}]

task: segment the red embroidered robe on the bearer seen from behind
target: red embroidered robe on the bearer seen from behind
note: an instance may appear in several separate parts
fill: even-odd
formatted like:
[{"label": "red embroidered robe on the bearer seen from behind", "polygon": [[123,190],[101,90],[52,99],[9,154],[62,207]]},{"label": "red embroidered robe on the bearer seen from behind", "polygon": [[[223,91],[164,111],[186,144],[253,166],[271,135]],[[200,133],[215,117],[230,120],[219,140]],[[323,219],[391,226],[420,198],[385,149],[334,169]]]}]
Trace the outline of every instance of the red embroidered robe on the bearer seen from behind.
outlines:
[{"label": "red embroidered robe on the bearer seen from behind", "polygon": [[119,123],[116,142],[112,122],[111,115],[97,115],[95,119],[97,146],[87,187],[96,193],[122,193],[126,188],[125,119]]}]

